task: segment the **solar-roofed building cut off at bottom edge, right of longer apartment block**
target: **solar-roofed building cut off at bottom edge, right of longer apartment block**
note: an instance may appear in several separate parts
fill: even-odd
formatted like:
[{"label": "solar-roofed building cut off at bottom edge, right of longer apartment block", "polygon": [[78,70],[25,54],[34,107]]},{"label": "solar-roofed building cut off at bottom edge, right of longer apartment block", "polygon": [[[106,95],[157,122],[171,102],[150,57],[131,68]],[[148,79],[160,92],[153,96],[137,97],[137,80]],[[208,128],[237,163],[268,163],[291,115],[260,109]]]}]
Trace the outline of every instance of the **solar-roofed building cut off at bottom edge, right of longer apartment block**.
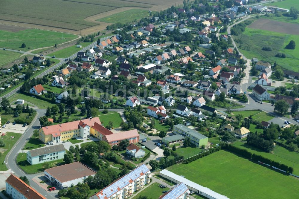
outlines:
[{"label": "solar-roofed building cut off at bottom edge, right of longer apartment block", "polygon": [[179,183],[168,192],[161,195],[159,199],[187,199],[189,198],[190,191],[184,183]]}]

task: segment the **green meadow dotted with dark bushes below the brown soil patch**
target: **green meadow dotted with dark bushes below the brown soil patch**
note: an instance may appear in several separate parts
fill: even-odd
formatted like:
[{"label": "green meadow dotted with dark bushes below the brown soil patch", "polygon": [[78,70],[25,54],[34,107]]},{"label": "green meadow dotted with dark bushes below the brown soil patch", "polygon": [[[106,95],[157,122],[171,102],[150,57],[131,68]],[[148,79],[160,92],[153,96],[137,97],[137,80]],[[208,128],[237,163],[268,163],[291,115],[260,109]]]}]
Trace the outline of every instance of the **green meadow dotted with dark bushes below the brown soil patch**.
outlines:
[{"label": "green meadow dotted with dark bushes below the brown soil patch", "polygon": [[[259,22],[260,20],[262,21]],[[295,48],[294,50],[284,49],[290,40],[294,40],[295,43],[299,44],[298,35],[295,35],[294,32],[290,32],[294,35],[280,33],[282,29],[280,29],[279,26],[276,26],[276,31],[273,29],[271,29],[271,31],[259,29],[258,26],[260,25],[254,25],[255,23],[264,23],[264,20],[265,19],[258,19],[249,27],[246,27],[242,34],[233,36],[240,52],[248,59],[256,57],[259,60],[268,61],[272,64],[276,62],[283,68],[298,72],[299,68],[297,67],[297,63],[299,61],[299,48]],[[287,24],[288,27],[292,27],[292,29],[294,29],[294,26],[299,27],[299,24],[285,24]],[[298,32],[296,34],[298,34]],[[262,50],[264,46],[271,47],[272,51]],[[275,57],[277,53],[284,53],[286,58]]]}]

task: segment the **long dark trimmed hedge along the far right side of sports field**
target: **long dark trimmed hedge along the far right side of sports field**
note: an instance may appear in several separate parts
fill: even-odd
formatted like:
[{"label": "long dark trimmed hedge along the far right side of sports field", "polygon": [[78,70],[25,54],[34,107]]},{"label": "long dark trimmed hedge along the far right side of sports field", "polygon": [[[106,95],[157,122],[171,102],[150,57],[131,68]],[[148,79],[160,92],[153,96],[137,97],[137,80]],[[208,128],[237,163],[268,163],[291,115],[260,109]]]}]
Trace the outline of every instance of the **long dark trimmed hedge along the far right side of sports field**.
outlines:
[{"label": "long dark trimmed hedge along the far right side of sports field", "polygon": [[228,143],[224,143],[222,144],[222,148],[226,149],[228,151],[237,153],[239,155],[242,155],[244,157],[247,157],[248,159],[252,159],[255,161],[260,161],[262,163],[266,163],[269,164],[270,166],[274,166],[278,169],[281,169],[283,171],[289,172],[289,173],[293,173],[294,169],[290,166],[287,166],[285,164],[280,164],[279,162],[275,162],[273,160],[270,160],[266,157],[263,157],[261,155],[257,155],[257,154],[252,154],[251,152],[247,151],[246,149],[240,149],[236,146],[232,146],[231,144]]}]

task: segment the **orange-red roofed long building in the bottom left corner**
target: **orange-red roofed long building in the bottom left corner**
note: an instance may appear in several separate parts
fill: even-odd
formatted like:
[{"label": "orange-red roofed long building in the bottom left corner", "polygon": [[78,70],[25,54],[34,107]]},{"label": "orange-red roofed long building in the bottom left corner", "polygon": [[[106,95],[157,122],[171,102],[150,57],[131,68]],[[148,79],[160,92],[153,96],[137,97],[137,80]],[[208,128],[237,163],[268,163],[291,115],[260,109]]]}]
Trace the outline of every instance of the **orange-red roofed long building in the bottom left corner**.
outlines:
[{"label": "orange-red roofed long building in the bottom left corner", "polygon": [[[6,180],[6,192],[12,198],[46,199],[23,180],[11,174]],[[22,195],[22,196],[21,196]]]}]

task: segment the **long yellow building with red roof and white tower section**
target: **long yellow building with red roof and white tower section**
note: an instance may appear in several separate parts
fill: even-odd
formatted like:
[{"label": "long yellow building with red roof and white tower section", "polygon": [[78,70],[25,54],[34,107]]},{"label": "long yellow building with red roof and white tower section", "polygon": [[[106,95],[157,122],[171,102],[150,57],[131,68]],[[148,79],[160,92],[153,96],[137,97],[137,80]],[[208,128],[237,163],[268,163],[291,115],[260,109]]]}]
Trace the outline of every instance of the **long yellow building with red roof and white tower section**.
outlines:
[{"label": "long yellow building with red roof and white tower section", "polygon": [[43,143],[59,143],[74,137],[86,138],[89,134],[101,140],[103,136],[112,134],[112,132],[101,125],[98,117],[94,117],[42,127],[39,129],[39,140]]}]

